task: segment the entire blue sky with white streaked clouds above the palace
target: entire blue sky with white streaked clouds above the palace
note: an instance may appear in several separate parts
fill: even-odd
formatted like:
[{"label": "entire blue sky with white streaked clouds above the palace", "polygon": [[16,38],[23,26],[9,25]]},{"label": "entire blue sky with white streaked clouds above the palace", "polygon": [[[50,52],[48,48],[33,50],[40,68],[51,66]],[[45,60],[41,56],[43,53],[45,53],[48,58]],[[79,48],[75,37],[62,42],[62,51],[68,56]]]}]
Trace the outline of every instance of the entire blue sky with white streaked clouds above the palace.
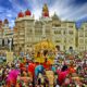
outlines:
[{"label": "entire blue sky with white streaked clouds above the palace", "polygon": [[13,27],[17,13],[27,9],[38,20],[45,3],[48,4],[50,16],[55,12],[63,21],[87,20],[87,0],[0,0],[0,20],[8,18]]}]

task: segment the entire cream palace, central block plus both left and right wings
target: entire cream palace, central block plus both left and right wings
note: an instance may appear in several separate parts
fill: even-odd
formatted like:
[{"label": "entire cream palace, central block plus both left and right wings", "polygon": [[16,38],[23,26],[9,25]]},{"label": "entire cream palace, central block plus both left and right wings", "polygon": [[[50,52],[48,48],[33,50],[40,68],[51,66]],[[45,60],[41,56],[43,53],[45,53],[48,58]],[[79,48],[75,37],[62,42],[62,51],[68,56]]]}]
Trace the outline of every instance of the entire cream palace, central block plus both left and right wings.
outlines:
[{"label": "entire cream palace, central block plus both left and right wings", "polygon": [[28,52],[35,45],[49,41],[61,51],[87,51],[87,22],[77,29],[75,22],[61,21],[55,13],[50,16],[47,4],[44,4],[39,20],[35,20],[27,9],[17,14],[13,29],[9,24],[7,18],[0,21],[0,50],[9,50],[11,41],[13,51]]}]

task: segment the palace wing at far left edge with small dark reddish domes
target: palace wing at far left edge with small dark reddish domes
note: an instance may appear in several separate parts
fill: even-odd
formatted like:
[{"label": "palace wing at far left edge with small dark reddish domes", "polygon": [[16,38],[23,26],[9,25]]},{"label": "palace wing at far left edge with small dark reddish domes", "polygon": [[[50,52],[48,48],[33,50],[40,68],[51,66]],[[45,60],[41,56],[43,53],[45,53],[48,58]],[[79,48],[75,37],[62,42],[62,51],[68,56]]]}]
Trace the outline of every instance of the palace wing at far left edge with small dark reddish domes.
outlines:
[{"label": "palace wing at far left edge with small dark reddish domes", "polygon": [[9,26],[9,21],[5,18],[3,22],[0,21],[0,51],[9,50],[9,42],[13,47],[13,30]]}]

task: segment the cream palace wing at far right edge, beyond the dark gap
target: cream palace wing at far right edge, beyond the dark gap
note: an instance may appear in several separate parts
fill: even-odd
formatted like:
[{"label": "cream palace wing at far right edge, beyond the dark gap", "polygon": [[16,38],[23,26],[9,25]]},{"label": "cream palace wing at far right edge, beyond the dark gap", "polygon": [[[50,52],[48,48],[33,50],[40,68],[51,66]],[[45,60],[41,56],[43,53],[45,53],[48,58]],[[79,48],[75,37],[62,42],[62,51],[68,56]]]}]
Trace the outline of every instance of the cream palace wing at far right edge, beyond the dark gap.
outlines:
[{"label": "cream palace wing at far right edge, beyond the dark gap", "polygon": [[84,22],[77,30],[77,37],[78,51],[87,51],[87,22]]}]

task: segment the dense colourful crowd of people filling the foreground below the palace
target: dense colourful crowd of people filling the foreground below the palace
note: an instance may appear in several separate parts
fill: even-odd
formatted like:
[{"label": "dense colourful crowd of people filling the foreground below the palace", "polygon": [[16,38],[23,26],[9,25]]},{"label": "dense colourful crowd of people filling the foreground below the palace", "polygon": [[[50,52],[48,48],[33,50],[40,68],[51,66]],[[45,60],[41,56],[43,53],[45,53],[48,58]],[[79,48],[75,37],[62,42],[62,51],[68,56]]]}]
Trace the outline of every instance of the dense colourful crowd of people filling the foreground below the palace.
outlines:
[{"label": "dense colourful crowd of people filling the foreground below the palace", "polygon": [[21,57],[0,64],[0,87],[87,87],[87,59],[48,50],[37,52],[33,60]]}]

